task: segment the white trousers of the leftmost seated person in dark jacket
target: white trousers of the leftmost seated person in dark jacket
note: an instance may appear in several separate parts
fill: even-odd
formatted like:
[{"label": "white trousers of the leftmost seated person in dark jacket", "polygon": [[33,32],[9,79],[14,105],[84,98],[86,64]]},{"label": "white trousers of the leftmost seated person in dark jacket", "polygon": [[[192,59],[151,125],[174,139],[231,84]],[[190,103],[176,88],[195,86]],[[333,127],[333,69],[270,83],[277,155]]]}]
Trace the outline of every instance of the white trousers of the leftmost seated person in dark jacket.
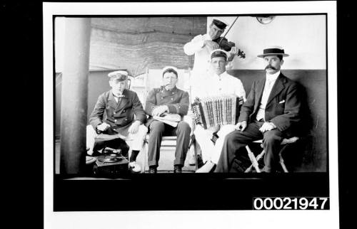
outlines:
[{"label": "white trousers of the leftmost seated person in dark jacket", "polygon": [[[129,152],[133,150],[140,151],[143,149],[144,145],[144,139],[146,137],[146,133],[148,132],[148,128],[144,126],[144,124],[141,124],[139,126],[138,132],[136,134],[129,134],[128,139],[126,140],[126,144],[129,145]],[[86,127],[86,147],[89,148],[89,151],[87,151],[87,154],[91,155],[93,154],[93,147],[94,143],[96,142],[96,137],[98,134],[94,130],[94,128],[91,125],[88,125]]]}]

